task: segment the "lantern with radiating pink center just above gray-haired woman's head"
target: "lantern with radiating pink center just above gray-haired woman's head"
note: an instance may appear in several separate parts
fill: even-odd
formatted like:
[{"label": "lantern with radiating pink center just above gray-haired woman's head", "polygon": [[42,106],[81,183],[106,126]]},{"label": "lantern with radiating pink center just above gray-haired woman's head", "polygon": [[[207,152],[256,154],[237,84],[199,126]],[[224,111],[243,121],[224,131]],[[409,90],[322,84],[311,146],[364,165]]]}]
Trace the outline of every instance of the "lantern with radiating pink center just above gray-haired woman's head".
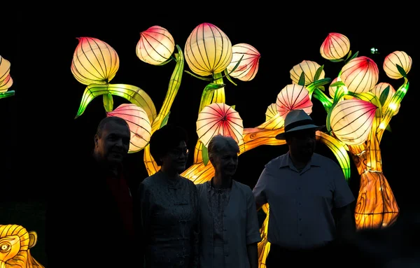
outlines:
[{"label": "lantern with radiating pink center just above gray-haired woman's head", "polygon": [[198,139],[206,147],[217,134],[231,136],[237,143],[243,139],[244,125],[239,113],[224,103],[205,106],[198,114],[196,125]]}]

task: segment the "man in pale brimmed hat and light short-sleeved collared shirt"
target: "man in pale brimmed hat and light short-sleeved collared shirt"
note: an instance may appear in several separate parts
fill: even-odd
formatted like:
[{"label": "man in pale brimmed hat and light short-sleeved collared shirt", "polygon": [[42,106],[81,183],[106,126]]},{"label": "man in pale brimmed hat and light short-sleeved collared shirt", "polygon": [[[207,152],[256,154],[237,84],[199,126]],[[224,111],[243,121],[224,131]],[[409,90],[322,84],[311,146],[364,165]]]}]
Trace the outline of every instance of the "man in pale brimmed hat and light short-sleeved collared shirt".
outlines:
[{"label": "man in pale brimmed hat and light short-sleeved collared shirt", "polygon": [[267,268],[289,261],[297,267],[331,265],[337,241],[353,236],[354,196],[342,169],[314,153],[315,133],[323,127],[303,110],[290,111],[276,136],[289,150],[265,165],[253,188],[257,209],[269,204]]}]

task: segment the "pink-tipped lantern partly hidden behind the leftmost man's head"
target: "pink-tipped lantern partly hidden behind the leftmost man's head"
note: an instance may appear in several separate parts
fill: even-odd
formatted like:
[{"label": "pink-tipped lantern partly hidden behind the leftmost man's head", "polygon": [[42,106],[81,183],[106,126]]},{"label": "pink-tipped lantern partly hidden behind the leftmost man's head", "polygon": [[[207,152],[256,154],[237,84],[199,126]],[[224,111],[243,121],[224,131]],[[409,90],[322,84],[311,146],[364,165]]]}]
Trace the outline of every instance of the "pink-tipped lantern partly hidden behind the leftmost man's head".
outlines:
[{"label": "pink-tipped lantern partly hidden behind the leftmost man's head", "polygon": [[142,150],[150,141],[152,126],[146,111],[136,104],[121,104],[106,116],[123,118],[130,127],[130,148],[128,153]]}]

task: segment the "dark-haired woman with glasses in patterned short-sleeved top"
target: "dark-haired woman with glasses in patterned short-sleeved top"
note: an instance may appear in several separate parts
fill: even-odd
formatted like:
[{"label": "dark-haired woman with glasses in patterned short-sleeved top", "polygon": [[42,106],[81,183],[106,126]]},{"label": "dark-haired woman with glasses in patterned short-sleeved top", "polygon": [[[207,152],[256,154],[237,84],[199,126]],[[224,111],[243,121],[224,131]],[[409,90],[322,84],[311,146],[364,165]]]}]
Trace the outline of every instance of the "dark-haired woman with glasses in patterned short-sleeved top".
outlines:
[{"label": "dark-haired woman with glasses in patterned short-sleeved top", "polygon": [[149,142],[160,170],[141,182],[135,204],[146,267],[198,267],[197,188],[179,175],[186,169],[187,140],[183,128],[165,125]]}]

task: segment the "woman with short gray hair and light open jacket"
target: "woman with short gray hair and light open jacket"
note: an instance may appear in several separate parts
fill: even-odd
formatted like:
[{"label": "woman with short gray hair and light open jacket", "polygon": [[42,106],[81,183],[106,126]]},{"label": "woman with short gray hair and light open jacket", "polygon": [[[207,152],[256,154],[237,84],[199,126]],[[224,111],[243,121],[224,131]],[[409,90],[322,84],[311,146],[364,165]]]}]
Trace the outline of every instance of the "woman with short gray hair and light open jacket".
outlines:
[{"label": "woman with short gray hair and light open jacket", "polygon": [[258,267],[261,241],[255,199],[248,185],[233,180],[239,146],[230,136],[214,136],[208,146],[214,177],[198,184],[200,267]]}]

